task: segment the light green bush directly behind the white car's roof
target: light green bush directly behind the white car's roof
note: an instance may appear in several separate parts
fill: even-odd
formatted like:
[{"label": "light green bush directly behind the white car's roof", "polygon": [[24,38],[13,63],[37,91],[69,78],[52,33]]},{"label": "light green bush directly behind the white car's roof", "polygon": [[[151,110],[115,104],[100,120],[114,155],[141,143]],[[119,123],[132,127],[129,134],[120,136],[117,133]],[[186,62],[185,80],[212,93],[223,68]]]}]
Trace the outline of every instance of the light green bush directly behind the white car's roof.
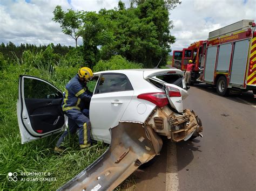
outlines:
[{"label": "light green bush directly behind the white car's roof", "polygon": [[137,69],[142,68],[141,63],[129,62],[120,55],[112,56],[110,60],[100,60],[94,67],[93,72],[114,69]]}]

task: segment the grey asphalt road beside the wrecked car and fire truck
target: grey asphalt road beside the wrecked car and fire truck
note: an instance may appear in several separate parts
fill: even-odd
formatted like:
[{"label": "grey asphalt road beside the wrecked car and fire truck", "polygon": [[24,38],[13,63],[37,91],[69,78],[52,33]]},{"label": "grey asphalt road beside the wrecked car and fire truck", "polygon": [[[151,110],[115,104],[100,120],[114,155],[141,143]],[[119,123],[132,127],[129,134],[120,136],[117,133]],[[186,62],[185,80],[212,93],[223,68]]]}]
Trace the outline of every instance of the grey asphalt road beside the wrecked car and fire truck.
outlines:
[{"label": "grey asphalt road beside the wrecked car and fire truck", "polygon": [[221,97],[205,84],[188,91],[184,108],[198,114],[204,137],[174,144],[172,151],[165,140],[156,162],[133,173],[136,190],[256,190],[256,99],[252,92]]}]

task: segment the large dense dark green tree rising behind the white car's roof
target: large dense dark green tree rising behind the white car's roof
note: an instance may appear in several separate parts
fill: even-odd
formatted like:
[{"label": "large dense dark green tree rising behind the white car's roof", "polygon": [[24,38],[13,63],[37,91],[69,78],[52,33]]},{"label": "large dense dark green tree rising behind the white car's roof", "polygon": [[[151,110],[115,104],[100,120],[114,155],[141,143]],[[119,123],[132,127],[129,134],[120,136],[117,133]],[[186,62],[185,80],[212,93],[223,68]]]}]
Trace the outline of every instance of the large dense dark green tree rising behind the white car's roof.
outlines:
[{"label": "large dense dark green tree rising behind the white car's roof", "polygon": [[107,30],[113,33],[111,43],[100,49],[103,59],[119,54],[144,67],[154,67],[160,60],[162,65],[166,63],[170,44],[175,41],[170,34],[169,10],[178,2],[138,0],[131,2],[136,7],[125,9],[119,1],[118,10],[99,11],[108,20]]}]

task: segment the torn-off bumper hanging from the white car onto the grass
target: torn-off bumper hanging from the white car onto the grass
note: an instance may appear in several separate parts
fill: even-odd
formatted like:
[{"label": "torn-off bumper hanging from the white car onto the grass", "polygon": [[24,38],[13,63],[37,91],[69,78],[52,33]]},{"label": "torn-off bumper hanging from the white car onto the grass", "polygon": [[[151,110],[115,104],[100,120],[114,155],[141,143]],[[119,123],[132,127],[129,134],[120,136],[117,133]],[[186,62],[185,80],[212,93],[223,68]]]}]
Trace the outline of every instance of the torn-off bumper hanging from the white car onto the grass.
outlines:
[{"label": "torn-off bumper hanging from the white car onto the grass", "polygon": [[107,151],[58,190],[112,190],[159,154],[163,142],[151,126],[119,122]]}]

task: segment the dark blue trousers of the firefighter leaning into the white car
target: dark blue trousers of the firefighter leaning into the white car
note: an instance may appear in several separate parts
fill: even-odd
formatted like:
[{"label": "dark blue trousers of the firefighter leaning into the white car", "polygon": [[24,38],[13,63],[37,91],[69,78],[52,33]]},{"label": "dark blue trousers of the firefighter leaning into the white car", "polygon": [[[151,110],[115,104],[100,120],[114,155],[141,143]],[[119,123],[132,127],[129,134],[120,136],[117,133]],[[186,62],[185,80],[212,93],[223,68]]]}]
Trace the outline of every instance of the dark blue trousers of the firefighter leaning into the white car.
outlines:
[{"label": "dark blue trousers of the firefighter leaning into the white car", "polygon": [[64,138],[70,134],[76,133],[79,130],[79,146],[84,148],[90,144],[91,140],[91,123],[89,119],[89,110],[84,109],[82,111],[71,109],[65,111],[65,114],[69,117],[69,128],[64,131],[59,138],[56,147],[59,147],[63,143]]}]

